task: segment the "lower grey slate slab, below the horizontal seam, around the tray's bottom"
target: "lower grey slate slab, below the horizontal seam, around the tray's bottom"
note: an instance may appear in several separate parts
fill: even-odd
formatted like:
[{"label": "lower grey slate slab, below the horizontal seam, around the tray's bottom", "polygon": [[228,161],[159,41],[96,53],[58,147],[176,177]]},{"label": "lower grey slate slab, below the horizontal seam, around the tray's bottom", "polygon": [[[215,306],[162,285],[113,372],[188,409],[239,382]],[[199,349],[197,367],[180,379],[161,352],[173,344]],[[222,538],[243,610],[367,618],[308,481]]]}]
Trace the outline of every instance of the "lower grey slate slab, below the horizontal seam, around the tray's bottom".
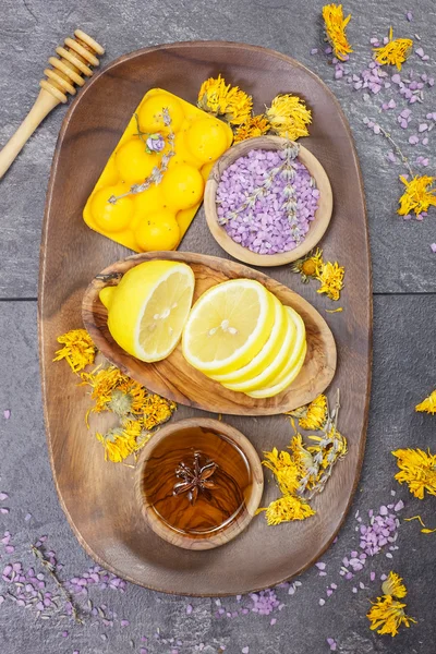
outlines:
[{"label": "lower grey slate slab, below the horizontal seam, around the tray's bottom", "polygon": [[[0,492],[9,493],[10,497],[0,506],[10,508],[10,513],[0,514],[0,538],[9,530],[15,552],[8,555],[0,544],[0,569],[13,561],[22,561],[27,568],[33,562],[29,544],[47,534],[47,548],[55,550],[64,565],[62,579],[80,577],[92,561],[66,523],[51,479],[38,385],[36,306],[34,302],[10,302],[2,306],[0,356],[2,368],[8,371],[8,383],[0,385]],[[268,616],[251,610],[254,603],[250,596],[239,602],[225,598],[217,606],[216,600],[167,596],[133,584],[128,584],[124,594],[90,588],[88,598],[93,604],[106,605],[105,611],[117,614],[112,627],[105,626],[98,616],[85,618],[83,626],[58,618],[44,622],[36,619],[35,610],[16,606],[7,597],[8,586],[0,581],[0,596],[7,597],[0,605],[1,654],[72,654],[75,650],[81,654],[138,653],[144,645],[142,635],[148,637],[149,654],[170,654],[172,647],[180,654],[191,654],[201,643],[207,654],[220,652],[221,645],[226,645],[226,654],[240,654],[246,646],[250,654],[323,654],[329,651],[326,638],[330,637],[337,639],[342,654],[431,654],[436,635],[434,535],[421,534],[416,522],[402,522],[399,549],[393,552],[391,561],[385,553],[377,555],[350,581],[344,581],[339,571],[342,558],[359,545],[358,510],[365,521],[371,508],[377,511],[382,505],[402,498],[405,504],[402,517],[421,513],[426,523],[436,526],[434,498],[420,502],[399,486],[392,479],[396,465],[390,455],[398,447],[434,449],[434,419],[414,413],[413,407],[434,385],[428,343],[435,311],[435,296],[376,298],[374,384],[363,474],[338,542],[323,557],[326,577],[319,577],[318,570],[312,568],[301,576],[302,585],[294,595],[289,594],[289,585],[276,589],[283,606]],[[4,409],[11,410],[8,421],[2,417]],[[397,492],[395,498],[391,489]],[[28,521],[27,513],[32,514]],[[404,577],[409,610],[419,619],[417,625],[403,630],[395,641],[373,634],[365,618],[370,598],[379,592],[379,576],[390,569]],[[377,573],[377,581],[370,581],[372,570]],[[46,578],[52,589],[47,574]],[[319,606],[319,598],[326,597],[326,586],[331,582],[338,584],[338,590]],[[360,582],[365,585],[363,590]],[[359,589],[356,594],[353,588]],[[193,611],[186,615],[189,606]],[[249,613],[233,618],[226,614],[218,617],[221,607],[226,614],[240,611],[242,607],[249,608]],[[122,619],[130,625],[121,627]],[[271,626],[271,620],[277,622]],[[69,632],[66,638],[62,637],[64,630]],[[157,630],[159,639],[155,638]],[[183,644],[171,645],[170,639]]]}]

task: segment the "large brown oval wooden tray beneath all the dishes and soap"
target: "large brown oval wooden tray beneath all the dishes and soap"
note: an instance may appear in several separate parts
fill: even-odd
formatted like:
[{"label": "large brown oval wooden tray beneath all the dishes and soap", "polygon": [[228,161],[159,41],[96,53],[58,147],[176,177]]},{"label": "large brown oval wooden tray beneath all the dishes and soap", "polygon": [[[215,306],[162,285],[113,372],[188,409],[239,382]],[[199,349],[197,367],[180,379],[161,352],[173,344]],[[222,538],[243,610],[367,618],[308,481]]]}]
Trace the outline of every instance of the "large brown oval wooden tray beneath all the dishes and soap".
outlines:
[{"label": "large brown oval wooden tray beneath all the dishes and soap", "polygon": [[[325,168],[335,201],[320,246],[327,259],[346,266],[346,288],[340,302],[334,303],[317,294],[317,282],[302,284],[289,266],[266,271],[304,295],[332,330],[338,365],[330,397],[340,388],[339,427],[347,435],[349,453],[313,502],[313,518],[267,526],[259,516],[231,543],[209,552],[189,552],[165,543],[145,525],[135,502],[134,470],[105,462],[101,445],[85,426],[86,390],[77,386],[64,362],[52,363],[52,359],[56,337],[82,325],[82,299],[90,280],[131,254],[90,231],[82,210],[132,111],[153,86],[195,102],[202,82],[218,73],[253,95],[255,112],[283,92],[301,95],[313,110],[311,136],[302,143]],[[203,210],[181,250],[222,255]],[[338,305],[342,313],[325,313]],[[359,164],[339,104],[307,69],[278,52],[239,44],[158,46],[114,61],[72,102],[55,154],[41,243],[41,377],[59,498],[78,541],[101,566],[167,593],[231,595],[274,585],[313,564],[337,534],[359,479],[370,391],[371,326],[371,269]],[[196,409],[180,405],[173,420],[196,414]],[[261,456],[274,446],[286,448],[292,435],[282,415],[222,417],[245,434]],[[269,480],[267,472],[263,506],[278,497]]]}]

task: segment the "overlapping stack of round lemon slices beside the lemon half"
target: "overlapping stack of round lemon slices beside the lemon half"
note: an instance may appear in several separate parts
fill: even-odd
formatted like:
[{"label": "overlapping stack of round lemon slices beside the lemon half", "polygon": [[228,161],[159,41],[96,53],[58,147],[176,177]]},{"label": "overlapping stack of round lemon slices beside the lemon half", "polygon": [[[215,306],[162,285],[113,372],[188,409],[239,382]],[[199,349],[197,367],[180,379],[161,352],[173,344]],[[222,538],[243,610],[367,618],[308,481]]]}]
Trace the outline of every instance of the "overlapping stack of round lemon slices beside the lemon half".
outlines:
[{"label": "overlapping stack of round lemon slices beside the lemon half", "polygon": [[284,390],[300,373],[306,334],[300,315],[253,279],[206,291],[182,336],[186,361],[226,388],[252,398]]}]

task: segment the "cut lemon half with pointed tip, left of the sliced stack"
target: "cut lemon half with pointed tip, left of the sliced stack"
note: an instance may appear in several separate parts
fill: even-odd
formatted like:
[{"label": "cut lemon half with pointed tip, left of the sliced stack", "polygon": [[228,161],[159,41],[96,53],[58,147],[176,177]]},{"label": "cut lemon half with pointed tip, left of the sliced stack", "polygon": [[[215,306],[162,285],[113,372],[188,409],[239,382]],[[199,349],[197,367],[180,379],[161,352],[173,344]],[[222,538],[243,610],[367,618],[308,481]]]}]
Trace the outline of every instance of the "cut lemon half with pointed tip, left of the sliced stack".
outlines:
[{"label": "cut lemon half with pointed tip, left of the sliced stack", "polygon": [[131,268],[117,287],[100,291],[113,339],[142,361],[166,359],[180,340],[194,286],[186,264],[152,261]]}]

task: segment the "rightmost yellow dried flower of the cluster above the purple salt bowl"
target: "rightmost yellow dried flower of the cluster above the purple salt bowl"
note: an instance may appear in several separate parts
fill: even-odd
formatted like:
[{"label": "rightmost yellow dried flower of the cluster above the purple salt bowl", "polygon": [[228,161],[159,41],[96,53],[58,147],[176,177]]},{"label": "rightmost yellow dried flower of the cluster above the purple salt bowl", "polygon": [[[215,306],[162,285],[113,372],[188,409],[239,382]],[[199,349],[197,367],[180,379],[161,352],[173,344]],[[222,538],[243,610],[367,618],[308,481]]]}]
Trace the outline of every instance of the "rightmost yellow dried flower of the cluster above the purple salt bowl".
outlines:
[{"label": "rightmost yellow dried flower of the cluster above the purple salt bowl", "polygon": [[278,95],[271,106],[266,108],[266,118],[271,130],[279,136],[296,141],[300,136],[308,136],[307,125],[312,122],[312,111],[304,100],[291,94]]}]

